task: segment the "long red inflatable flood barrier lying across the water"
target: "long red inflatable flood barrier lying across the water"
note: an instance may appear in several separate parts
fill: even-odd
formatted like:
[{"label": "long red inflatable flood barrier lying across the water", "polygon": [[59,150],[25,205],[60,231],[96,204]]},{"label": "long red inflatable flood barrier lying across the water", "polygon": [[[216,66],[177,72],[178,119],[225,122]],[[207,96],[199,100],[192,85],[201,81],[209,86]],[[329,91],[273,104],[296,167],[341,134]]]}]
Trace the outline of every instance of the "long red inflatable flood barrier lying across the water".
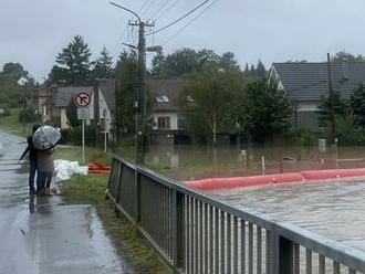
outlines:
[{"label": "long red inflatable flood barrier lying across the water", "polygon": [[275,173],[249,177],[208,178],[202,180],[190,180],[184,183],[201,190],[223,189],[250,186],[263,186],[283,182],[303,182],[305,180],[328,180],[345,177],[365,176],[365,168],[358,169],[331,169],[309,170],[294,173]]}]

